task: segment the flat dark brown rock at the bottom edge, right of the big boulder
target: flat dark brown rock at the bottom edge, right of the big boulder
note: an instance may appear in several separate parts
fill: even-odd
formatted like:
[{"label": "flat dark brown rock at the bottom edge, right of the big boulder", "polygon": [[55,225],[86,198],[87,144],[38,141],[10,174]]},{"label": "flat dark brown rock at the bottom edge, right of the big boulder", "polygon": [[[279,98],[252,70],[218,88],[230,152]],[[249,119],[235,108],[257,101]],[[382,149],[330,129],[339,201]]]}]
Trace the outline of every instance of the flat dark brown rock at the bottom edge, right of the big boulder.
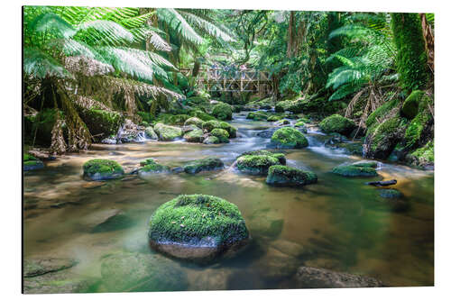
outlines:
[{"label": "flat dark brown rock at the bottom edge, right of the big boulder", "polygon": [[337,288],[337,287],[381,287],[382,281],[373,277],[364,277],[340,273],[325,268],[300,267],[295,276],[299,288]]}]

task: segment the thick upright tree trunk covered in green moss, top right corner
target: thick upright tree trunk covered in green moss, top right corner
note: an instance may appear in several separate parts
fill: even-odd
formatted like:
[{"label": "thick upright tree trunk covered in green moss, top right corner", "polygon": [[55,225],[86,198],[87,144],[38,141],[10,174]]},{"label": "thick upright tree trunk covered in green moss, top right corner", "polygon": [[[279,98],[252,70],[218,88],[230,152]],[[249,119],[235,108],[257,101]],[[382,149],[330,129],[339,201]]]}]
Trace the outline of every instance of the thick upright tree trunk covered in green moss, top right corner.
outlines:
[{"label": "thick upright tree trunk covered in green moss, top right corner", "polygon": [[391,14],[391,30],[398,55],[400,85],[407,92],[428,84],[428,56],[419,14]]}]

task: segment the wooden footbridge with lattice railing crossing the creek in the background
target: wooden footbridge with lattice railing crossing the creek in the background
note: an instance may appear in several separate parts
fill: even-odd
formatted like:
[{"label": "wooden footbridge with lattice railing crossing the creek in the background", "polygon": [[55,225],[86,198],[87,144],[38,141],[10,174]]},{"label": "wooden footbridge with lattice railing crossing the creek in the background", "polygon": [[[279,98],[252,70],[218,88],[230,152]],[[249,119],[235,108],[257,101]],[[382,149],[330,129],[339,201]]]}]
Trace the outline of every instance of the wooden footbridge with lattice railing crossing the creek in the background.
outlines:
[{"label": "wooden footbridge with lattice railing crossing the creek in the background", "polygon": [[[185,76],[190,69],[181,69]],[[254,92],[272,94],[272,80],[269,73],[253,69],[226,70],[225,68],[201,68],[197,85],[208,92]]]}]

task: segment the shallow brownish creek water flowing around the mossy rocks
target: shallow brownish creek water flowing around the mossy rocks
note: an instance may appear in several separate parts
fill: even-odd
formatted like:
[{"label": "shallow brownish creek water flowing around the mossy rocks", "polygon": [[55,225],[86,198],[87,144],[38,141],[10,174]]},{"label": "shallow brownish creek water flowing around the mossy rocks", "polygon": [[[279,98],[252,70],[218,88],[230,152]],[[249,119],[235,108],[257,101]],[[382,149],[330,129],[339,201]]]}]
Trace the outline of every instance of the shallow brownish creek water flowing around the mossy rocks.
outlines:
[{"label": "shallow brownish creek water flowing around the mossy rocks", "polygon": [[[146,158],[177,167],[191,159],[214,156],[230,166],[242,152],[264,149],[270,141],[256,134],[271,123],[244,116],[234,115],[231,123],[238,128],[238,138],[228,144],[93,145],[85,153],[69,154],[30,172],[24,177],[24,259],[78,259],[75,274],[98,277],[102,282],[107,278],[101,277],[100,262],[109,253],[161,256],[149,249],[146,236],[149,217],[159,205],[179,194],[207,194],[239,207],[253,241],[239,256],[213,266],[177,261],[179,272],[189,278],[189,285],[182,289],[295,288],[290,277],[302,265],[376,277],[389,286],[434,284],[433,172],[382,162],[378,179],[396,178],[396,188],[409,201],[410,210],[393,213],[375,207],[379,188],[364,185],[367,178],[330,173],[336,165],[360,158],[325,148],[321,133],[314,128],[307,134],[308,148],[285,151],[287,165],[318,175],[318,184],[302,188],[267,186],[264,177],[238,174],[231,168],[146,180],[127,176],[104,183],[81,177],[82,164],[94,158],[115,159],[131,169]],[[133,218],[132,226],[92,231],[118,210]],[[291,256],[275,250],[286,241],[303,250]]]}]

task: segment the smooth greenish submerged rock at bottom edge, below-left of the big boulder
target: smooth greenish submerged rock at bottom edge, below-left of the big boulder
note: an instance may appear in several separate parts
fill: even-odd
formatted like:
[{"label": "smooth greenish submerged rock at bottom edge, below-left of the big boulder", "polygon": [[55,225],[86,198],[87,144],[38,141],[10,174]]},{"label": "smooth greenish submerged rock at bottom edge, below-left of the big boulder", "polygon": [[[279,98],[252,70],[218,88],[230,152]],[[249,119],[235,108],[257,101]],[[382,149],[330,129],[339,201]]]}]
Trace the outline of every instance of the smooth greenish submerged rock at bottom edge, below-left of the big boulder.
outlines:
[{"label": "smooth greenish submerged rock at bottom edge, below-left of the big boulder", "polygon": [[118,252],[107,255],[100,272],[106,292],[181,291],[188,287],[179,265],[158,254]]}]

